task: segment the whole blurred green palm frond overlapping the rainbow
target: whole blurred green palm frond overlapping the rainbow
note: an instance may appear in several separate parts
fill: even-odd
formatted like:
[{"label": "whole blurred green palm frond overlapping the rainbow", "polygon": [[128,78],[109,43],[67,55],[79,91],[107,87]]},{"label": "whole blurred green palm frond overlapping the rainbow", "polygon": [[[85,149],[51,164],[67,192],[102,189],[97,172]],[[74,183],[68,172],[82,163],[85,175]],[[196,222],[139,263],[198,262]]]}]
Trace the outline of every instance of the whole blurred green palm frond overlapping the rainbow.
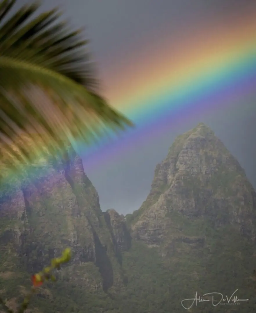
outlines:
[{"label": "whole blurred green palm frond overlapping the rainbow", "polygon": [[15,2],[0,3],[1,161],[31,162],[132,126],[98,95],[80,31],[58,22],[57,9],[31,20],[36,3],[7,18]]}]

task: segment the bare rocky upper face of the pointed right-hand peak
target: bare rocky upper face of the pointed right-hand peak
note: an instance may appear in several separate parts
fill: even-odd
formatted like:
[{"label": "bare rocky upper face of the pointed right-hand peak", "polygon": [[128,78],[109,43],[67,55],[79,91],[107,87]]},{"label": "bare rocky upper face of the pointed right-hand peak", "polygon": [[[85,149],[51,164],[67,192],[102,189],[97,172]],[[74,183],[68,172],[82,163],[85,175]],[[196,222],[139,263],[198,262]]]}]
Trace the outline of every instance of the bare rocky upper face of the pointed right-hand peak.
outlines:
[{"label": "bare rocky upper face of the pointed right-hand peak", "polygon": [[170,213],[213,225],[234,225],[255,240],[256,194],[244,170],[206,125],[176,138],[155,169],[151,191],[133,213],[133,236],[160,245],[170,232]]}]

